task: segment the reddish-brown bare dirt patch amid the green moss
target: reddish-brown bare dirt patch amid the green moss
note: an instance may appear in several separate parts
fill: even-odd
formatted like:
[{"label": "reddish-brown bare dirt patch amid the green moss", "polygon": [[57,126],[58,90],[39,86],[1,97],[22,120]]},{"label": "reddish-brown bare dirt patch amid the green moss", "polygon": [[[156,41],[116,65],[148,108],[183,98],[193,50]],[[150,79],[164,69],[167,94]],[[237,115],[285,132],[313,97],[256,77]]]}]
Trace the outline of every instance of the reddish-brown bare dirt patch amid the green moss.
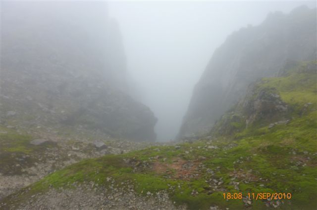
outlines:
[{"label": "reddish-brown bare dirt patch amid the green moss", "polygon": [[189,180],[198,177],[197,167],[199,163],[185,161],[177,158],[173,159],[172,163],[155,162],[153,170],[158,174],[168,174],[172,178]]}]

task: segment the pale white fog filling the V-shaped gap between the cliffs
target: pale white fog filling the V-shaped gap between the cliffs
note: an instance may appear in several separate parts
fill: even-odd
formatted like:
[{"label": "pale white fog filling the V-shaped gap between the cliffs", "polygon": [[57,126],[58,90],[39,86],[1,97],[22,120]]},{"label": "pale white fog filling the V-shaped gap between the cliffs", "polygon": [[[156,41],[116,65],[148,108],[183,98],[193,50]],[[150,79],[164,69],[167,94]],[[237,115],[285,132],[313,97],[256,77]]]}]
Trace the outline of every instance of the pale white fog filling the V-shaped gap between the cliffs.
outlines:
[{"label": "pale white fog filling the V-shaped gap between the cliffs", "polygon": [[158,118],[157,139],[177,134],[194,85],[226,37],[269,12],[288,13],[314,1],[109,1],[141,101]]}]

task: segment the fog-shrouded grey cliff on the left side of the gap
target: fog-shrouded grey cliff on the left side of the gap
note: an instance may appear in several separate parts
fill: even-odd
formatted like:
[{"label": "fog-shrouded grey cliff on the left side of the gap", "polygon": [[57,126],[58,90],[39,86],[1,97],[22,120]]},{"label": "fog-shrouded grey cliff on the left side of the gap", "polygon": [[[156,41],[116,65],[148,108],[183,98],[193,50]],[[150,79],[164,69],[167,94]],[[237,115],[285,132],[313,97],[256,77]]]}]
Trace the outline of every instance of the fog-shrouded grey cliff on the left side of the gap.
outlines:
[{"label": "fog-shrouded grey cliff on the left side of the gap", "polygon": [[104,2],[2,7],[2,126],[156,139],[157,119],[131,97],[120,31]]}]

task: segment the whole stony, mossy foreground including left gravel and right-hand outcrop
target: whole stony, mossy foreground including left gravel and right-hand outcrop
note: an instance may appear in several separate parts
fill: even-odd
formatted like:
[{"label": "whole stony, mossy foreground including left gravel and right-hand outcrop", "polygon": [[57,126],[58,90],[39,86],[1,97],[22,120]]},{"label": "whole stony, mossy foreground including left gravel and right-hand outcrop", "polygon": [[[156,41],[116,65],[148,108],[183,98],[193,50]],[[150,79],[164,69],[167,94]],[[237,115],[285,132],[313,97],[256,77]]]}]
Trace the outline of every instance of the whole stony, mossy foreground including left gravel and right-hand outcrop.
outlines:
[{"label": "whole stony, mossy foreground including left gravel and right-hand outcrop", "polygon": [[[210,136],[178,145],[1,129],[0,171],[10,176],[7,189],[13,178],[18,189],[38,180],[26,176],[48,175],[2,198],[0,209],[316,210],[316,74],[300,69],[256,85],[254,97],[243,104],[266,101],[266,115],[263,109],[243,112],[238,104]],[[287,104],[287,111],[275,114],[275,102]],[[104,155],[110,153],[116,155]],[[229,199],[224,193],[242,195]],[[291,197],[247,196],[253,193]]]}]

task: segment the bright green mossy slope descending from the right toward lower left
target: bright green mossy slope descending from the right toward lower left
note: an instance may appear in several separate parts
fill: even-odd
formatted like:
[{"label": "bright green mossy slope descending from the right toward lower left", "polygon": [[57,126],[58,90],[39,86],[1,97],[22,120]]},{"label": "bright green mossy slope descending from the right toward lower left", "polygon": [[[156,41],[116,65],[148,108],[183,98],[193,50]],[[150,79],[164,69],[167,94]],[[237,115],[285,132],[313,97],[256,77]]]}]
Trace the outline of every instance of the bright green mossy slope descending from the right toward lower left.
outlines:
[{"label": "bright green mossy slope descending from the right toward lower left", "polygon": [[[23,195],[16,194],[15,199],[12,195],[6,201],[21,202],[50,185],[71,187],[73,182],[94,181],[108,187],[107,177],[112,177],[118,187],[124,187],[127,180],[134,182],[136,192],[143,195],[167,190],[176,205],[186,203],[192,210],[213,205],[230,210],[247,208],[242,200],[223,199],[223,192],[242,192],[244,196],[248,192],[290,192],[292,199],[282,200],[284,204],[277,209],[317,209],[316,79],[315,72],[292,72],[283,78],[264,78],[265,83],[258,84],[275,87],[292,108],[287,125],[249,127],[234,136],[201,139],[180,148],[152,147],[84,160],[48,175],[31,185],[31,190],[24,189]],[[307,103],[312,104],[303,111]],[[181,168],[184,164],[187,169]],[[217,184],[211,179],[223,183],[214,189]],[[239,190],[232,180],[240,183]],[[252,202],[251,209],[267,209],[264,201]]]}]

